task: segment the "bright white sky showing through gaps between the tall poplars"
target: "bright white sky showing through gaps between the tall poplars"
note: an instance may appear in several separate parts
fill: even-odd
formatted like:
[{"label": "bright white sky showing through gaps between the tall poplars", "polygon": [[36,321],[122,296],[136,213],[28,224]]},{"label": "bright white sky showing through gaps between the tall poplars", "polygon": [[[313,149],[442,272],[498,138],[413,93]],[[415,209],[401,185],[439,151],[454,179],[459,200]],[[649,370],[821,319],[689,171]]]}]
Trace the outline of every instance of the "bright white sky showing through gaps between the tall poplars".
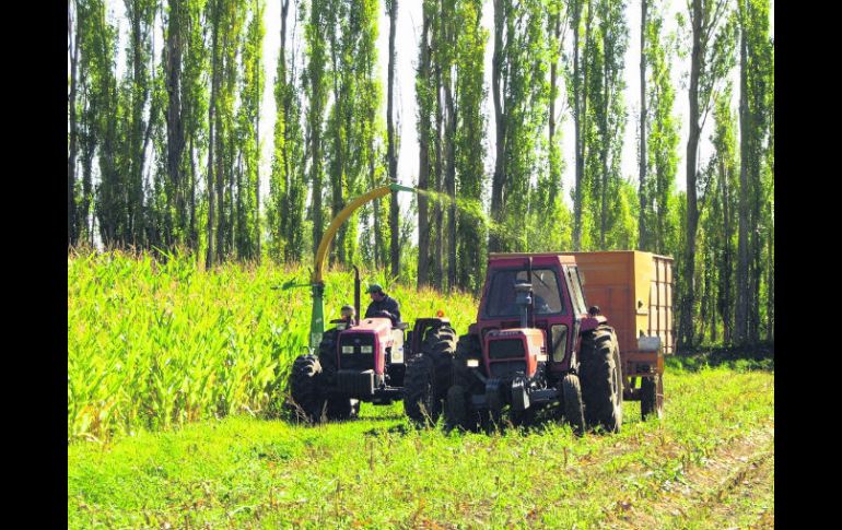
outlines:
[{"label": "bright white sky showing through gaps between the tall poplars", "polygon": [[[291,0],[294,4],[296,0]],[[304,4],[305,0],[297,0],[299,4]],[[400,184],[413,186],[418,181],[418,134],[416,130],[416,93],[414,93],[414,78],[416,78],[416,64],[418,61],[418,42],[420,38],[420,23],[421,23],[421,4],[420,0],[408,1],[399,0],[398,2],[398,20],[397,32],[395,39],[396,49],[396,86],[395,86],[395,109],[396,109],[396,127],[398,134],[400,136],[400,149],[398,152],[398,180]],[[659,0],[657,4],[664,9],[665,31],[667,33],[677,31],[676,13],[678,11],[687,12],[687,4],[685,1],[675,0]],[[120,46],[117,57],[118,74],[121,74],[125,69],[125,42],[127,24],[124,19],[124,5],[119,0],[108,1],[109,11],[113,19],[120,22]],[[381,4],[381,20],[378,22],[378,38],[377,49],[379,50],[378,70],[381,74],[382,85],[384,89],[383,109],[386,111],[386,97],[385,91],[387,86],[387,56],[388,56],[388,33],[389,33],[389,20],[386,16],[383,3]],[[482,11],[482,25],[489,32],[489,40],[486,46],[486,86],[489,91],[484,105],[484,113],[487,116],[488,132],[486,136],[486,160],[484,166],[487,173],[490,176],[493,173],[494,166],[494,113],[490,95],[491,86],[491,57],[493,52],[493,4],[491,0],[486,0]],[[624,142],[622,150],[622,163],[621,174],[624,178],[636,182],[638,181],[638,139],[636,130],[638,115],[640,113],[640,16],[641,16],[641,1],[630,0],[627,3],[627,22],[629,24],[629,43],[625,55],[625,92],[624,102],[629,121],[625,126]],[[276,105],[272,93],[272,86],[276,78],[276,70],[278,67],[278,55],[280,50],[280,32],[281,32],[281,0],[266,0],[265,12],[265,28],[266,37],[264,40],[264,68],[266,71],[266,86],[264,91],[262,110],[260,116],[260,139],[261,145],[261,164],[260,164],[260,196],[268,197],[269,193],[269,175],[271,173],[271,153],[272,153],[272,136],[276,120]],[[771,2],[770,10],[770,32],[774,35],[774,0]],[[297,48],[296,56],[299,60],[302,58],[302,35],[303,27],[296,23],[294,16],[294,10],[291,8],[288,20],[288,32],[294,33],[295,42],[293,46]],[[570,40],[570,39],[569,39]],[[156,31],[155,35],[155,48],[156,57],[160,57],[161,46],[163,44],[163,37],[161,31]],[[569,43],[568,43],[569,45]],[[687,150],[687,116],[688,116],[688,93],[687,93],[687,75],[689,71],[689,57],[678,58],[675,57],[673,62],[673,82],[676,86],[676,102],[674,114],[678,118],[681,126],[680,142],[679,142],[679,164],[678,173],[676,175],[677,188],[679,190],[686,189],[686,170],[683,161],[686,158]],[[733,72],[734,82],[734,107],[736,108],[738,90],[738,69],[734,69]],[[563,83],[563,81],[561,81]],[[560,94],[563,94],[563,85]],[[560,98],[563,96],[560,96]],[[561,102],[559,102],[561,103]],[[559,105],[557,104],[557,108]],[[573,120],[569,116],[562,117],[562,154],[565,162],[564,172],[562,175],[562,186],[564,189],[563,197],[571,204],[570,191],[573,188],[574,180],[574,150],[573,150]],[[710,134],[712,130],[712,120],[707,120],[704,129],[702,130],[702,142],[700,145],[699,163],[702,166],[707,157],[711,155]],[[488,179],[490,181],[490,178]],[[400,204],[401,213],[407,211],[407,205],[410,200],[408,195],[401,195]]]}]

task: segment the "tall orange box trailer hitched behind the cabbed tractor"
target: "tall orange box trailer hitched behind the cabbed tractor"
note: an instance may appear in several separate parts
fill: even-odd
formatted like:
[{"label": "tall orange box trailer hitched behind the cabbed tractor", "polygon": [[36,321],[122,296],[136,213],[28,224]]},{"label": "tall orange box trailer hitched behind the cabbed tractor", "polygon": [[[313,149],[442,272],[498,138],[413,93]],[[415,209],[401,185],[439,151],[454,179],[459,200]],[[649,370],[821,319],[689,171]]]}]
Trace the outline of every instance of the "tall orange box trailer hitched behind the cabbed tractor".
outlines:
[{"label": "tall orange box trailer hitched behind the cabbed tractor", "polygon": [[641,405],[660,416],[664,355],[675,352],[673,258],[639,250],[564,255],[575,257],[587,304],[598,306],[617,332],[623,399],[640,400],[643,385],[655,385],[656,403]]}]

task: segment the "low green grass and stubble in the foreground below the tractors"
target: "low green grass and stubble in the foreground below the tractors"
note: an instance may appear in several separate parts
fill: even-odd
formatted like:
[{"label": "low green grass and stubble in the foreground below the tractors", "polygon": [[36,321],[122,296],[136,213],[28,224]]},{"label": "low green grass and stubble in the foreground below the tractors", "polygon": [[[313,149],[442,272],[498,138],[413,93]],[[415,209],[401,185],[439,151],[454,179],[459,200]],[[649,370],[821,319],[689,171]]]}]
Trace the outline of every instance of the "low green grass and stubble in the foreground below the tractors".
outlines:
[{"label": "low green grass and stubble in the foreground below the tractors", "polygon": [[361,420],[317,427],[237,415],[113,445],[73,444],[69,523],[725,528],[760,520],[773,510],[769,487],[735,498],[728,480],[737,455],[773,451],[774,373],[670,364],[666,417],[643,423],[639,404],[627,402],[615,436],[580,439],[558,425],[416,431],[399,404],[364,404]]}]

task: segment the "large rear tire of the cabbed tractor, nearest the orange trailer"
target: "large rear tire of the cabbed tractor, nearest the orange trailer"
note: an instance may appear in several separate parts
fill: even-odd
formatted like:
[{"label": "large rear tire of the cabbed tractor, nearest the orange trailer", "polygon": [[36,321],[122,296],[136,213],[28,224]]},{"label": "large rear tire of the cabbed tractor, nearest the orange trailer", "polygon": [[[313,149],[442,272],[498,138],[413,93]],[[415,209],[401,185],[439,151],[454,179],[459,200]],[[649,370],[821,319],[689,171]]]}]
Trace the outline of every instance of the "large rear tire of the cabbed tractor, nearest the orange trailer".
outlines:
[{"label": "large rear tire of the cabbed tractor, nearest the orange trailer", "polygon": [[580,380],[588,428],[618,433],[622,425],[622,373],[613,329],[599,326],[582,337]]}]

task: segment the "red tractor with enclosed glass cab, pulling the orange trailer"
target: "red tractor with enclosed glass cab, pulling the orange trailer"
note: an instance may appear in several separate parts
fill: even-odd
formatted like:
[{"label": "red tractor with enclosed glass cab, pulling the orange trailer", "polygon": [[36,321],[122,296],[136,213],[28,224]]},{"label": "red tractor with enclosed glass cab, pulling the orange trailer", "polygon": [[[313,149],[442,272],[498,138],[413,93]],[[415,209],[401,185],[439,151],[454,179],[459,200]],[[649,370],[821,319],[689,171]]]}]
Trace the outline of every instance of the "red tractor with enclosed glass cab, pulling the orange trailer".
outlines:
[{"label": "red tractor with enclosed glass cab, pulling the orange trailer", "polygon": [[445,416],[475,429],[528,424],[545,410],[577,433],[622,425],[615,330],[587,308],[576,260],[559,254],[490,255],[476,323],[459,338]]}]

